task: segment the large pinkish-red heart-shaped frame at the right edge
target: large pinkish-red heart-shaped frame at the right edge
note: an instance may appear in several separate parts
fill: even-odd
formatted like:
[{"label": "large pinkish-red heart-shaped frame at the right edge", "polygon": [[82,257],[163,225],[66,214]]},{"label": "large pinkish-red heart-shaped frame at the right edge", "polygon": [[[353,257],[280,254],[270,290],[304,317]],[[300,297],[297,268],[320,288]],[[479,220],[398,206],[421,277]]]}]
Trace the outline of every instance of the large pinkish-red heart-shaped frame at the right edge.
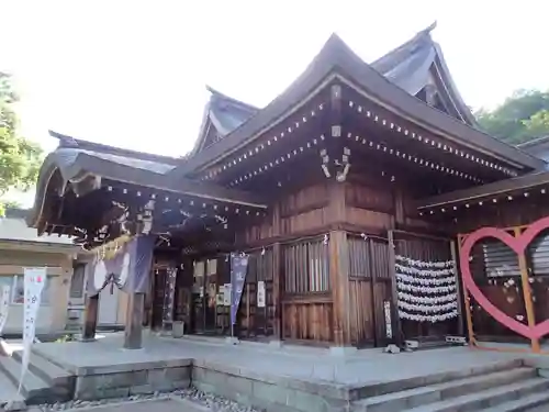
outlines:
[{"label": "large pinkish-red heart-shaped frame at the right edge", "polygon": [[530,242],[544,230],[549,227],[549,218],[540,219],[528,226],[519,236],[512,236],[505,231],[496,227],[482,227],[478,231],[471,233],[466,237],[463,245],[460,250],[460,266],[461,266],[461,278],[464,288],[472,294],[477,303],[479,303],[488,313],[490,313],[497,322],[503,324],[516,333],[528,337],[530,339],[540,338],[549,333],[549,319],[536,324],[530,327],[520,323],[513,318],[508,316],[496,308],[488,298],[484,296],[482,290],[479,289],[474,279],[471,275],[471,268],[469,267],[469,259],[471,255],[471,249],[474,244],[485,237],[494,237],[508,247],[511,247],[515,253],[523,254]]}]

